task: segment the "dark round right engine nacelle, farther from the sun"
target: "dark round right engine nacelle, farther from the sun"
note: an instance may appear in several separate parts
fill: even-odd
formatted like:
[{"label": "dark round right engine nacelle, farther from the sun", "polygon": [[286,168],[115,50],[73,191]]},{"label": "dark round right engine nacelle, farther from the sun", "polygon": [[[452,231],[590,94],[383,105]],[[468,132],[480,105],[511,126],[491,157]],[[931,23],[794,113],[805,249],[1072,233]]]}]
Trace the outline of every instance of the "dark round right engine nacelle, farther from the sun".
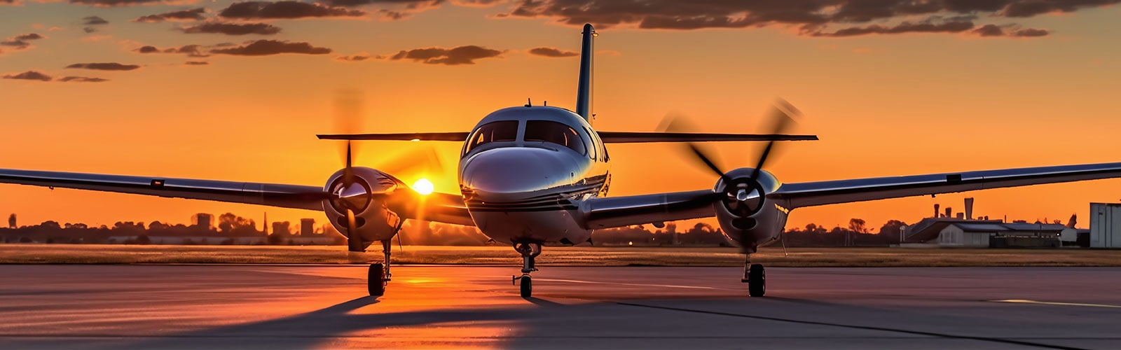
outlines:
[{"label": "dark round right engine nacelle, farther from the sun", "polygon": [[781,183],[767,171],[760,171],[752,181],[754,172],[750,167],[728,172],[716,181],[713,190],[721,193],[713,209],[724,236],[749,251],[778,239],[789,213],[789,210],[767,200],[767,194],[778,191]]}]

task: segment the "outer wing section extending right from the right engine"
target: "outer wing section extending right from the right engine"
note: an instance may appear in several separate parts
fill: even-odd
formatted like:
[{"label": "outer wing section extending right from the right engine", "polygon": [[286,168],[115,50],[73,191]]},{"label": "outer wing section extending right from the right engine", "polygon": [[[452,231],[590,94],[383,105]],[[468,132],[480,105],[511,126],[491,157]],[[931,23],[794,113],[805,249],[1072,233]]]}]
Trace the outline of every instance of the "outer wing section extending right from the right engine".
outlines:
[{"label": "outer wing section extending right from the right engine", "polygon": [[767,197],[795,209],[1111,177],[1121,177],[1121,163],[789,183]]}]

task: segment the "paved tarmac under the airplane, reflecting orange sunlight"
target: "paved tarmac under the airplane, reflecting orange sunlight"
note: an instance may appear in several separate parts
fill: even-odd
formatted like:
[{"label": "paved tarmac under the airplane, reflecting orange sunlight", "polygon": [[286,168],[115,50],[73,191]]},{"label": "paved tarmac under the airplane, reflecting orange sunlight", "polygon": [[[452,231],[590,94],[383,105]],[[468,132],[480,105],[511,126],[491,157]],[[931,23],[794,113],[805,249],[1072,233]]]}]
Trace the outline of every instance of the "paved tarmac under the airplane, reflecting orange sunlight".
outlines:
[{"label": "paved tarmac under the airplane, reflecting orange sunlight", "polygon": [[1121,347],[1121,268],[0,266],[0,348]]}]

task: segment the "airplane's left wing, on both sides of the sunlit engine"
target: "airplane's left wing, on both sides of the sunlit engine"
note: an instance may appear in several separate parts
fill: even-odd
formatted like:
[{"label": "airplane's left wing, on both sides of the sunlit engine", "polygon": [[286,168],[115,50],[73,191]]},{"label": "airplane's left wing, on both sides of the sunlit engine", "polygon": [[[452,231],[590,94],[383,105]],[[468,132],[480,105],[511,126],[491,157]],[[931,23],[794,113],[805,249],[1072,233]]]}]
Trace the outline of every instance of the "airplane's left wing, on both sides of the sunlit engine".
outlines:
[{"label": "airplane's left wing, on both sides of the sunlit engine", "polygon": [[[20,169],[0,169],[0,183],[259,204],[321,212],[323,200],[330,196],[319,186]],[[407,194],[392,195],[387,205],[405,219],[474,225],[462,196],[404,192]]]}]

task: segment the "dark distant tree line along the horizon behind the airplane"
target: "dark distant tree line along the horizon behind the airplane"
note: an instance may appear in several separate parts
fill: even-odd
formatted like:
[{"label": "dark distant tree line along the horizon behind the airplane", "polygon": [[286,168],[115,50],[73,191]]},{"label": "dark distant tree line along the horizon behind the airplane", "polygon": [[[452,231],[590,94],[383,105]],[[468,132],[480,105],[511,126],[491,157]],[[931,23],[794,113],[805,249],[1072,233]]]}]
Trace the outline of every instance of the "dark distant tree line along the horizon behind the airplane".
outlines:
[{"label": "dark distant tree line along the horizon behind the airplane", "polygon": [[[263,238],[263,243],[291,243],[291,238],[298,233],[291,231],[291,224],[280,221],[274,224],[271,233],[265,228],[258,230],[257,222],[233,213],[217,215],[213,227],[197,224],[165,223],[160,221],[132,222],[119,221],[113,225],[91,227],[84,223],[58,223],[45,221],[35,225],[17,227],[16,214],[8,218],[8,228],[0,228],[0,242],[39,242],[39,243],[149,243],[152,237],[192,237],[206,238],[205,242],[196,243],[232,243],[234,238]],[[847,227],[836,225],[832,229],[809,223],[804,228],[786,230],[781,242],[788,247],[854,247],[887,246],[898,243],[900,228],[906,222],[889,220],[872,231],[862,219],[851,219]],[[334,245],[345,245],[345,238],[331,224],[316,227],[315,236],[331,238]],[[210,239],[213,238],[213,239]],[[408,246],[487,246],[504,245],[493,242],[474,227],[445,224],[438,222],[408,220],[401,228],[396,243]],[[573,242],[584,245],[586,242]],[[676,222],[667,222],[664,227],[630,225],[612,229],[600,229],[592,233],[593,246],[680,246],[680,247],[715,247],[731,246],[720,228],[704,222],[680,228]]]}]

